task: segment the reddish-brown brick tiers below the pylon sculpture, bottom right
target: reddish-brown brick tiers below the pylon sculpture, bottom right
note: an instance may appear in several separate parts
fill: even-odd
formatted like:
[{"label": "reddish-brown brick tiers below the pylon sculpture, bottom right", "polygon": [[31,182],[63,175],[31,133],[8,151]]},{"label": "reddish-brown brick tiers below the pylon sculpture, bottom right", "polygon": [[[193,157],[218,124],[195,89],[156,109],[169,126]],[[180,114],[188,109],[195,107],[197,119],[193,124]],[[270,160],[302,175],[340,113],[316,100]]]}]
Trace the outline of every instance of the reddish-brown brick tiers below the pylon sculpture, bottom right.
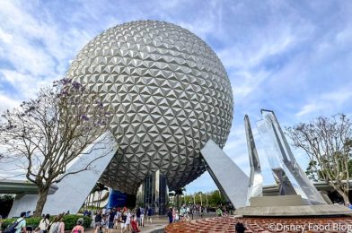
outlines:
[{"label": "reddish-brown brick tiers below the pylon sculpture, bottom right", "polygon": [[235,232],[234,225],[240,220],[247,229],[246,233],[352,232],[352,217],[290,219],[214,217],[172,223],[165,228],[165,232]]}]

